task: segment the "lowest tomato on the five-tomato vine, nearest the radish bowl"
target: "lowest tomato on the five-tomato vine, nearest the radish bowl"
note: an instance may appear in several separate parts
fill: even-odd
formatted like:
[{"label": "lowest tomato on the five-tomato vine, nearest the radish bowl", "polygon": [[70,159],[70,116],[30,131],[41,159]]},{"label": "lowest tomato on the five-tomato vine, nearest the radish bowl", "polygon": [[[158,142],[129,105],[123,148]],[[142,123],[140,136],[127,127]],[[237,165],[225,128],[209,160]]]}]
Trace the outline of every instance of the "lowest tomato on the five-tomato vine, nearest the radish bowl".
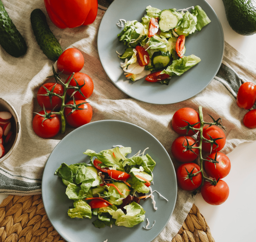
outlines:
[{"label": "lowest tomato on the five-tomato vine, nearest the radish bowl", "polygon": [[[46,110],[47,113],[50,113],[51,110]],[[44,111],[40,111],[39,114],[44,115]],[[52,114],[51,117],[44,120],[44,117],[36,114],[33,118],[32,126],[35,133],[42,138],[52,138],[60,132],[61,128],[61,119],[60,115]],[[44,120],[44,122],[43,122]],[[43,123],[42,123],[43,122]]]}]

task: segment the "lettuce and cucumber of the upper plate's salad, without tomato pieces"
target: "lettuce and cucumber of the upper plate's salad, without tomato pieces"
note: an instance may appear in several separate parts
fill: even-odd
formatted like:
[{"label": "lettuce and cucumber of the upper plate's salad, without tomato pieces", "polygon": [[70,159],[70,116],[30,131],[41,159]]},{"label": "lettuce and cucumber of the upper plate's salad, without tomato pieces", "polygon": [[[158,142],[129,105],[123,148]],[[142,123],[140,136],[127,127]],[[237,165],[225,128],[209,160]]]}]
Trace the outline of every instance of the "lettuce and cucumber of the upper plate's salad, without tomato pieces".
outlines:
[{"label": "lettuce and cucumber of the upper plate's salad, without tomato pieces", "polygon": [[[195,55],[184,56],[185,46],[180,57],[176,49],[179,36],[187,38],[195,31],[201,31],[211,20],[198,5],[182,10],[173,8],[163,11],[149,5],[146,7],[146,12],[147,14],[142,17],[140,22],[120,19],[117,23],[118,26],[124,27],[121,33],[117,34],[117,38],[126,47],[123,54],[118,53],[119,58],[124,60],[124,63],[120,64],[126,77],[132,81],[148,76],[151,71],[161,71],[161,74],[167,74],[165,76],[169,75],[169,77],[161,79],[160,83],[168,85],[172,76],[180,76],[201,61]],[[159,28],[156,34],[151,36],[152,18],[158,22]],[[138,62],[138,51],[135,50],[138,45],[142,46],[149,55],[149,62],[144,66]],[[154,55],[156,51],[165,54],[159,52]],[[170,59],[166,56],[170,56]]]}]

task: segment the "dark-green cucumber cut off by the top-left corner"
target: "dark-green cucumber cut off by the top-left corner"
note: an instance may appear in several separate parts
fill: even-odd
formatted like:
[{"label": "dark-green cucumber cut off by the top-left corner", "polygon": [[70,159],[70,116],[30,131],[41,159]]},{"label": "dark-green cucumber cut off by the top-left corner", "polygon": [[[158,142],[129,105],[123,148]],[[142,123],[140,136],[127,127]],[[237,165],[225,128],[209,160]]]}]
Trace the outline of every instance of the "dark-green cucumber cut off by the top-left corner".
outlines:
[{"label": "dark-green cucumber cut off by the top-left corner", "polygon": [[13,24],[4,4],[0,0],[0,45],[13,57],[21,57],[27,52],[27,44]]}]

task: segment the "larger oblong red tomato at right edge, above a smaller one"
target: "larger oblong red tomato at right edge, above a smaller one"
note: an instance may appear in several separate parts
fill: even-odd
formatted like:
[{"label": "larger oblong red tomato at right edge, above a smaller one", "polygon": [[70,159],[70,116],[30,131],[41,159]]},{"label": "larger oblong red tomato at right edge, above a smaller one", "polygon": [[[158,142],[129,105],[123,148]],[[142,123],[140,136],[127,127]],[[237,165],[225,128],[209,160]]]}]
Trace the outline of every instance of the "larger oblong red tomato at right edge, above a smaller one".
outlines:
[{"label": "larger oblong red tomato at right edge, above a smaller one", "polygon": [[238,107],[251,109],[256,101],[256,85],[252,82],[244,82],[238,89],[236,103]]}]

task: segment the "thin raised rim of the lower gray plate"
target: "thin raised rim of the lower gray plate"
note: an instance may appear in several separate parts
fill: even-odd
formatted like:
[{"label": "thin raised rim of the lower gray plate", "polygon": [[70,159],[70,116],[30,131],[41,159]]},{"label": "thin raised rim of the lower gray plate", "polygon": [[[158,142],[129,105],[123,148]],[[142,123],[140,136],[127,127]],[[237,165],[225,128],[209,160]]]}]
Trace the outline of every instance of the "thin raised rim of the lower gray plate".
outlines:
[{"label": "thin raised rim of the lower gray plate", "polygon": [[[43,182],[43,181],[44,181],[44,176],[45,176],[45,168],[46,168],[47,163],[48,163],[48,160],[49,160],[50,156],[52,155],[53,151],[55,150],[55,148],[62,142],[62,140],[68,139],[69,136],[73,135],[73,133],[77,132],[77,130],[79,130],[79,129],[83,129],[83,128],[89,126],[89,125],[91,126],[91,125],[96,125],[96,124],[99,124],[99,123],[108,123],[108,122],[123,123],[123,124],[126,124],[126,125],[132,125],[132,126],[134,126],[135,128],[139,128],[139,129],[142,130],[143,132],[148,133],[148,134],[149,134],[156,142],[158,142],[158,144],[164,149],[166,155],[169,157],[170,166],[172,167],[172,169],[173,169],[173,171],[174,171],[174,176],[175,176],[175,177],[174,177],[174,181],[175,181],[175,191],[174,191],[174,193],[175,193],[175,199],[174,199],[174,204],[173,204],[173,207],[172,207],[172,211],[171,211],[171,213],[170,213],[170,216],[169,216],[168,220],[166,221],[166,223],[164,224],[163,228],[161,229],[161,231],[159,231],[157,234],[155,234],[155,235],[153,236],[154,238],[150,238],[150,240],[148,241],[148,242],[150,242],[150,241],[152,241],[153,239],[155,239],[155,238],[164,230],[164,228],[166,227],[166,225],[169,223],[169,221],[170,221],[170,219],[171,219],[171,216],[172,216],[172,214],[173,214],[173,211],[174,211],[174,209],[175,209],[175,205],[176,205],[176,202],[177,202],[177,197],[178,197],[177,178],[176,178],[175,168],[174,168],[174,165],[173,165],[173,163],[172,163],[172,159],[171,159],[170,155],[168,154],[167,150],[165,149],[165,147],[162,145],[162,143],[161,143],[153,134],[151,134],[151,133],[148,132],[147,130],[143,129],[142,127],[140,127],[140,126],[138,126],[138,125],[135,125],[135,124],[133,124],[133,123],[127,122],[127,121],[115,120],[115,119],[104,119],[104,120],[93,121],[93,122],[90,122],[90,123],[88,123],[88,124],[82,125],[82,126],[76,128],[76,129],[74,129],[73,131],[71,131],[70,133],[68,133],[64,138],[62,138],[62,139],[60,140],[60,142],[53,148],[51,154],[49,155],[49,157],[48,157],[48,159],[47,159],[47,161],[46,161],[46,163],[45,163],[44,170],[43,170],[43,175],[42,175],[42,201],[43,201],[43,204],[44,204],[44,208],[46,208],[46,207],[45,207],[46,202],[45,202],[45,200],[44,200],[45,191],[44,191],[44,182]],[[66,137],[67,137],[67,138],[66,138]],[[64,142],[64,141],[63,141],[63,142]],[[47,212],[46,209],[45,209],[45,213],[46,213],[46,215],[47,215],[49,221],[51,222],[53,228],[60,234],[60,236],[61,236],[62,238],[64,238],[66,241],[71,242],[71,241],[68,240],[68,238],[66,238],[65,236],[63,236],[63,233],[61,233],[61,231],[58,231],[58,230],[56,229],[56,227],[54,226],[54,223],[51,221],[50,217],[48,216],[48,212]]]}]

